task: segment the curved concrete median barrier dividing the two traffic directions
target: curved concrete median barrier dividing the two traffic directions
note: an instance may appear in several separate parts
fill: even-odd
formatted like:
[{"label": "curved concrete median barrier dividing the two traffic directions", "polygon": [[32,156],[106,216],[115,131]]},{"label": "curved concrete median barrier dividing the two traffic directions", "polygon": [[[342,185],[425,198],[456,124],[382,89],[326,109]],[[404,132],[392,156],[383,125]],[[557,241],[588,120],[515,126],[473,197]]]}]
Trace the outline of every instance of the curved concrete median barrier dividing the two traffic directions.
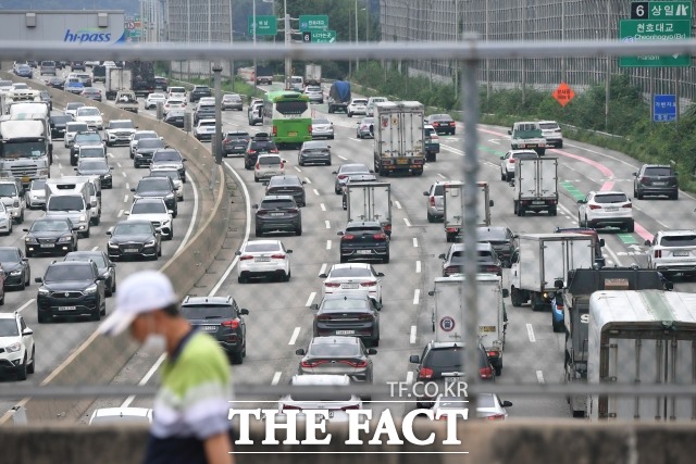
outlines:
[{"label": "curved concrete median barrier dividing the two traffic directions", "polygon": [[[0,77],[23,80],[33,88],[48,89],[57,106],[64,106],[69,101],[84,101],[99,108],[104,115],[104,121],[132,120],[140,129],[157,130],[171,147],[178,149],[187,158],[187,171],[196,178],[199,187],[200,211],[203,212],[200,218],[202,224],[187,244],[161,267],[161,271],[172,279],[178,297],[183,299],[213,264],[228,228],[228,197],[224,171],[214,164],[210,151],[192,136],[163,122],[62,90],[47,88],[37,84],[36,80],[21,79],[5,72],[0,72]],[[137,346],[129,341],[127,335],[111,339],[92,334],[41,385],[109,384],[136,350]],[[27,419],[32,424],[49,419],[74,421],[84,414],[94,400],[94,398],[24,399],[18,404],[25,407]],[[0,418],[0,424],[10,422],[11,417],[11,412],[5,414]]]}]

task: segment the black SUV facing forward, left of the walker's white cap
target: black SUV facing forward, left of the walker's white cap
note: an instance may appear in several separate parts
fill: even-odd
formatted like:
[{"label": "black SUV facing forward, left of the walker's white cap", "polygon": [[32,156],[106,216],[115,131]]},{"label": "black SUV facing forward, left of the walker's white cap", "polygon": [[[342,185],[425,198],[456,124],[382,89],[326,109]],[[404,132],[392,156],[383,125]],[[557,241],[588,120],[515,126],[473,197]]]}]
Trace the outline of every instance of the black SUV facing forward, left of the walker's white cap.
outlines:
[{"label": "black SUV facing forward, left of the walker's white cap", "polygon": [[35,280],[42,284],[36,297],[39,324],[55,316],[99,321],[107,314],[104,277],[91,261],[54,261]]}]

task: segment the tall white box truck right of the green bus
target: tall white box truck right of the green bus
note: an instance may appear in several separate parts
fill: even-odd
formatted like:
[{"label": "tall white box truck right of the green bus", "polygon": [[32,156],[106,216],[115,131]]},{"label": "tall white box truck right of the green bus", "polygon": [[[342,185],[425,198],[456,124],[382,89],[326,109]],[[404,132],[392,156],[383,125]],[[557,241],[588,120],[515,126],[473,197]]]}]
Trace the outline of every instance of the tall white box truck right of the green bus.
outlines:
[{"label": "tall white box truck right of the green bus", "polygon": [[374,172],[423,174],[425,131],[423,104],[418,101],[377,103],[375,106]]}]

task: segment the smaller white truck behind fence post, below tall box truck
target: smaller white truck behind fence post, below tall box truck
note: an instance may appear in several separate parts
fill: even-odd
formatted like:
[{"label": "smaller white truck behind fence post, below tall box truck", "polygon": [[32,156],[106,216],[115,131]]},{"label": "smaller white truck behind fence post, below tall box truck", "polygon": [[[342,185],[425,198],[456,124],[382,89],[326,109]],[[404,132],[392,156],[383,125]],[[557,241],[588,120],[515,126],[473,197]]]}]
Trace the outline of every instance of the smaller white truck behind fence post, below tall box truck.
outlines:
[{"label": "smaller white truck behind fence post, below tall box truck", "polygon": [[[453,180],[445,184],[443,190],[443,223],[445,224],[445,237],[447,241],[455,241],[464,225],[464,184]],[[478,204],[476,208],[476,224],[480,226],[490,225],[490,206],[494,205],[490,199],[488,183],[476,183],[478,189]]]}]

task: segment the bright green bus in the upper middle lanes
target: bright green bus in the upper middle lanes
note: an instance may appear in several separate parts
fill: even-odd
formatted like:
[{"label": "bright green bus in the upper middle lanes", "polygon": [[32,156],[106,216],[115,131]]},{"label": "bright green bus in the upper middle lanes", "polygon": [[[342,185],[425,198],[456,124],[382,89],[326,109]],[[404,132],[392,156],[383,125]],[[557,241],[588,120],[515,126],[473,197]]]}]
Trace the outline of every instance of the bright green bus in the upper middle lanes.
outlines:
[{"label": "bright green bus in the upper middle lanes", "polygon": [[278,147],[301,146],[312,139],[309,97],[297,91],[268,92],[263,98],[263,125]]}]

